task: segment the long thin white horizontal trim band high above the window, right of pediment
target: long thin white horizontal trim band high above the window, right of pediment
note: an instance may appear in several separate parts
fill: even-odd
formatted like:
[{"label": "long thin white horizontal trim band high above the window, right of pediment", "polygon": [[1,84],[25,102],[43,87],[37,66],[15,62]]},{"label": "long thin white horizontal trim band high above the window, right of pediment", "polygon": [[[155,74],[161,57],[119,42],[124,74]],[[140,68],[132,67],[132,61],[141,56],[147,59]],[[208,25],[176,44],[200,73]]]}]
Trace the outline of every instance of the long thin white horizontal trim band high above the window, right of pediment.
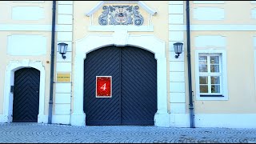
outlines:
[{"label": "long thin white horizontal trim band high above the window, right of pediment", "polygon": [[[169,25],[169,30],[186,31],[186,25]],[[190,25],[192,31],[255,31],[255,25]]]}]

